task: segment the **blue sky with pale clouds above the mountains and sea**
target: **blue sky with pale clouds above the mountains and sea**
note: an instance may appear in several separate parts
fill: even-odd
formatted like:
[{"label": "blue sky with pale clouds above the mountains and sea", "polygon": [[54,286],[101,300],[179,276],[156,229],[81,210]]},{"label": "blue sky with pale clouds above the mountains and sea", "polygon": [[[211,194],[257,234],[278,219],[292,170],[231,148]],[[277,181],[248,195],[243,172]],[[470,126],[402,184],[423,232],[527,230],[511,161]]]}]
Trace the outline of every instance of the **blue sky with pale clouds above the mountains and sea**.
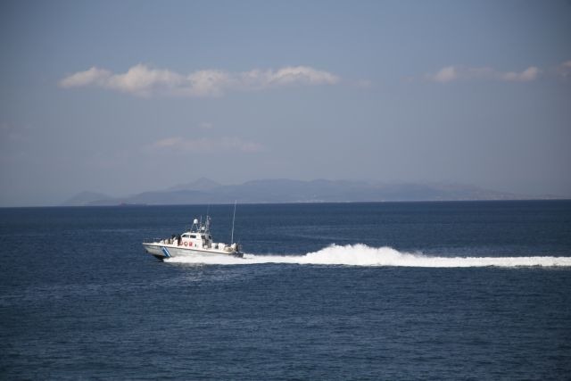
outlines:
[{"label": "blue sky with pale clouds above the mountains and sea", "polygon": [[569,1],[4,1],[0,206],[196,178],[571,197]]}]

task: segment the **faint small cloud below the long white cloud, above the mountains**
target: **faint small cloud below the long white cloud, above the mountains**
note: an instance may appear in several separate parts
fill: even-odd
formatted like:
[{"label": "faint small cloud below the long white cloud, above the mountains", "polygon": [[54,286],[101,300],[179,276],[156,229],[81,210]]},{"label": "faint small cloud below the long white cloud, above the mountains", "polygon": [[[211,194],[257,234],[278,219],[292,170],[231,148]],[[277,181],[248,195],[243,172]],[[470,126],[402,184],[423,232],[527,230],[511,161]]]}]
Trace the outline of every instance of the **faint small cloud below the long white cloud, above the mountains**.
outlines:
[{"label": "faint small cloud below the long white cloud, above the mountains", "polygon": [[210,137],[198,139],[167,137],[154,142],[153,147],[187,153],[228,153],[232,151],[254,153],[262,150],[261,145],[244,141],[238,137],[221,137],[219,139]]}]

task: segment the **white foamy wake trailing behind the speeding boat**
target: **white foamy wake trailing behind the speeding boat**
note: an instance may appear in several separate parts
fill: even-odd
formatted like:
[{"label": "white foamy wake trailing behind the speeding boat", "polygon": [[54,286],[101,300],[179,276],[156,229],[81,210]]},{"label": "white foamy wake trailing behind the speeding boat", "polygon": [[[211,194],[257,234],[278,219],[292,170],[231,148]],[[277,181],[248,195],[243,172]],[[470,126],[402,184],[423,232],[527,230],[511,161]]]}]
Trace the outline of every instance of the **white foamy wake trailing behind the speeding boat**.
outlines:
[{"label": "white foamy wake trailing behind the speeding boat", "polygon": [[426,268],[465,267],[517,267],[545,266],[571,267],[571,257],[435,257],[422,253],[401,253],[391,247],[369,247],[366,244],[332,244],[315,253],[305,255],[253,255],[244,258],[226,255],[177,257],[170,263],[202,263],[217,265],[294,263],[346,266],[400,266]]}]

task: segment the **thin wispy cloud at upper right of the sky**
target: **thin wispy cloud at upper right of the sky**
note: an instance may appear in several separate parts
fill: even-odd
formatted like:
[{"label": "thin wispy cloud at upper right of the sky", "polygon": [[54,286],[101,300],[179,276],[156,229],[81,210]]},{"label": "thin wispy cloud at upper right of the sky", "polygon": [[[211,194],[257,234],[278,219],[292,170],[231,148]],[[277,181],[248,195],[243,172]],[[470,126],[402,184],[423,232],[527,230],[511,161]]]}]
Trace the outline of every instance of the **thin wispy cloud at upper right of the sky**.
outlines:
[{"label": "thin wispy cloud at upper right of the sky", "polygon": [[446,66],[432,74],[427,74],[426,79],[434,82],[447,83],[460,79],[492,79],[509,82],[528,82],[537,79],[541,73],[535,66],[517,71],[499,71],[489,67],[473,68],[468,66]]}]

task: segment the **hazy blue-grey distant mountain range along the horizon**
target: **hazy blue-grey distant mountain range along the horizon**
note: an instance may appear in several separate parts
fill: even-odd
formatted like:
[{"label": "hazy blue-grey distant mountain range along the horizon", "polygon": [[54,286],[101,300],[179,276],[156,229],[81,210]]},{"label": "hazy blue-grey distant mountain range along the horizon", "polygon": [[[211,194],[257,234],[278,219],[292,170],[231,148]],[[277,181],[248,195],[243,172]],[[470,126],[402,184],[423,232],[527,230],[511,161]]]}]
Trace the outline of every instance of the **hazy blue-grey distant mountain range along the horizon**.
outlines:
[{"label": "hazy blue-grey distant mountain range along the horizon", "polygon": [[121,204],[178,205],[203,203],[344,203],[388,201],[522,200],[531,197],[496,192],[460,184],[376,184],[366,181],[291,179],[252,180],[221,185],[199,178],[165,190],[111,197],[82,192],[63,203],[67,206]]}]

